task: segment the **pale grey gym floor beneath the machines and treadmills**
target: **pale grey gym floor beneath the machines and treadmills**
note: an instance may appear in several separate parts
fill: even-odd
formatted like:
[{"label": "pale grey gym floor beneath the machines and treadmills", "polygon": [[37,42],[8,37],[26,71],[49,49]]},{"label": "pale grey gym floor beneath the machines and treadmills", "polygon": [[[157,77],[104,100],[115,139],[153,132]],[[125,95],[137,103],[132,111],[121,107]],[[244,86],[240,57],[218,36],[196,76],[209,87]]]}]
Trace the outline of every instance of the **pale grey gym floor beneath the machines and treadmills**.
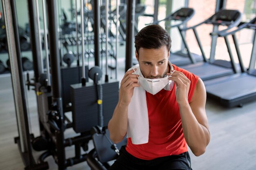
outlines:
[{"label": "pale grey gym floor beneath the machines and treadmills", "polygon": [[[124,61],[120,60],[119,62],[119,80],[121,80],[124,75]],[[27,91],[27,97],[30,130],[35,136],[38,136],[38,115],[34,91]],[[0,108],[0,169],[23,170],[24,165],[18,146],[14,144],[13,140],[18,135],[18,131],[10,74],[0,75]],[[200,157],[195,157],[189,151],[193,170],[255,170],[256,101],[245,104],[243,108],[228,109],[207,99],[206,110],[211,141],[204,155]],[[67,115],[72,117],[71,113],[67,113]],[[65,131],[65,137],[72,136],[76,136],[73,130]],[[89,143],[89,150],[92,148],[92,143]],[[34,155],[38,156],[40,153],[34,152]],[[74,147],[67,147],[66,157],[73,156]],[[48,157],[46,161],[49,163],[50,170],[58,169],[52,157]],[[67,169],[90,170],[86,162]]]}]

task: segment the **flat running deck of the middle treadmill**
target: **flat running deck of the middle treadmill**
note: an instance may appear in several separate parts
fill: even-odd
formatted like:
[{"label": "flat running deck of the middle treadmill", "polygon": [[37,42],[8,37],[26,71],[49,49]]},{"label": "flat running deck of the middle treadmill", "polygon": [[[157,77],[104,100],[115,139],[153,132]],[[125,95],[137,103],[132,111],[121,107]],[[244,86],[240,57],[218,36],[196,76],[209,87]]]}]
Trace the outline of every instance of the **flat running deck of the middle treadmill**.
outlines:
[{"label": "flat running deck of the middle treadmill", "polygon": [[234,73],[234,71],[231,68],[225,68],[222,66],[209,64],[206,62],[181,66],[181,68],[197,75],[202,80],[212,79]]}]

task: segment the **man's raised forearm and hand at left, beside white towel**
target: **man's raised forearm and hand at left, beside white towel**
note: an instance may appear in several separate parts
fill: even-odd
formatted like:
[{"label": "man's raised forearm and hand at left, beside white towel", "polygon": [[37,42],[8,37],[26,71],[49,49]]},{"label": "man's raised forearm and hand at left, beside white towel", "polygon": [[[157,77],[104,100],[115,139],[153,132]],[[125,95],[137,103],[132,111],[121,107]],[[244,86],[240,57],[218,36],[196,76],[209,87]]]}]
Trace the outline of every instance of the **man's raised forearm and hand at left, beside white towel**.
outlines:
[{"label": "man's raised forearm and hand at left, beside white towel", "polygon": [[[135,68],[136,71],[136,68]],[[122,141],[127,132],[128,124],[128,105],[133,95],[135,87],[139,87],[137,75],[134,71],[127,71],[121,81],[119,88],[119,101],[115,108],[112,118],[108,122],[110,139],[116,144]]]}]

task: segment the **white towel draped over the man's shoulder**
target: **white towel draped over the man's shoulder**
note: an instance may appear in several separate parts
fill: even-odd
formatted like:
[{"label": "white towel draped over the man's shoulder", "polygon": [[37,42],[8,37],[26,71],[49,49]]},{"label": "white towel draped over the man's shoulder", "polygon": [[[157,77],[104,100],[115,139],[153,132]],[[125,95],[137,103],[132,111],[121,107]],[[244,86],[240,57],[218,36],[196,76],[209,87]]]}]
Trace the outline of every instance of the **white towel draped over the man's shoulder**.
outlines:
[{"label": "white towel draped over the man's shoulder", "polygon": [[[139,64],[133,66],[129,70],[135,68],[137,68],[136,74],[143,77]],[[131,102],[128,106],[127,137],[131,137],[132,144],[146,144],[148,143],[148,135],[149,123],[146,91],[142,87],[135,87]]]}]

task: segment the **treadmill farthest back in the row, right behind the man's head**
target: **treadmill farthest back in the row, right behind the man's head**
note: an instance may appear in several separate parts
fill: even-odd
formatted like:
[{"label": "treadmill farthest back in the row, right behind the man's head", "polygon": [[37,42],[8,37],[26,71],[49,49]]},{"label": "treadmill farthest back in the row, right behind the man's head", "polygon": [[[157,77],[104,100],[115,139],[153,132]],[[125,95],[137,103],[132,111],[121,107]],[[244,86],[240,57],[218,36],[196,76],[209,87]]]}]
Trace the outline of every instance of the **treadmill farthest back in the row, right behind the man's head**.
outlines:
[{"label": "treadmill farthest back in the row, right behind the man's head", "polygon": [[[177,29],[180,32],[182,42],[184,43],[184,46],[187,49],[187,53],[183,53],[182,51],[170,53],[170,57],[169,57],[170,62],[177,66],[182,66],[182,65],[196,63],[196,62],[202,62],[202,60],[203,60],[202,56],[200,56],[198,54],[191,53],[189,51],[188,45],[186,43],[186,39],[183,35],[184,31],[181,30],[181,26],[186,24],[186,22],[189,21],[193,17],[194,14],[195,14],[195,11],[192,8],[181,8],[181,9],[175,11],[174,13],[171,13],[163,20],[153,22],[153,24],[159,24],[159,22],[162,22],[162,21],[177,21],[178,22],[178,24],[166,26],[166,29],[177,27]],[[133,58],[132,62],[133,62],[133,64],[138,63],[136,58]]]}]

